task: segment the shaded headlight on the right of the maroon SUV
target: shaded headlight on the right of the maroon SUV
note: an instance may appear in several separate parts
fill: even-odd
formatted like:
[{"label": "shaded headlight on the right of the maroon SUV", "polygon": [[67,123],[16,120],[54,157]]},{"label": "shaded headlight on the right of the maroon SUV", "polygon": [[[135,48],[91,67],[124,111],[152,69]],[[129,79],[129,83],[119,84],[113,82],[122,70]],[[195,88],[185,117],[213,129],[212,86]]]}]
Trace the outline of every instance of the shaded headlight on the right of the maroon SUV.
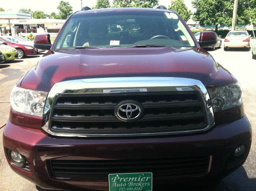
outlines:
[{"label": "shaded headlight on the right of the maroon SUV", "polygon": [[212,100],[213,111],[222,111],[236,107],[242,103],[240,84],[232,84],[208,89]]}]

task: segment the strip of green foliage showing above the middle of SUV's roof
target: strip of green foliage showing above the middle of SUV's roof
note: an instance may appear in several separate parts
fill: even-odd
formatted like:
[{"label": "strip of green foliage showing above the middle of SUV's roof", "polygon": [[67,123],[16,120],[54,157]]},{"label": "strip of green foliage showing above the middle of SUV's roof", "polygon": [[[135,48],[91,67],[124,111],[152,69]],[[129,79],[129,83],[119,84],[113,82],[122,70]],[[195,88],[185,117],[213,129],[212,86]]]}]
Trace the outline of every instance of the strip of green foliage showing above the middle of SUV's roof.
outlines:
[{"label": "strip of green foliage showing above the middle of SUV's roof", "polygon": [[158,0],[113,0],[114,7],[154,8]]}]

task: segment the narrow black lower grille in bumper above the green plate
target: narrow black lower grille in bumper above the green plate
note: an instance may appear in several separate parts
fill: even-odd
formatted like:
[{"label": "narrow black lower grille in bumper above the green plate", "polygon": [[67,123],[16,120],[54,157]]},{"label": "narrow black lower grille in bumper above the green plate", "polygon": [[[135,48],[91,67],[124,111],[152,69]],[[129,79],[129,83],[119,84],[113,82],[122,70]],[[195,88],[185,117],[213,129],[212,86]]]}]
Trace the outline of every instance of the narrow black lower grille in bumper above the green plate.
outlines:
[{"label": "narrow black lower grille in bumper above the green plate", "polygon": [[55,177],[108,178],[110,173],[152,172],[154,177],[206,173],[209,157],[145,160],[50,160]]}]

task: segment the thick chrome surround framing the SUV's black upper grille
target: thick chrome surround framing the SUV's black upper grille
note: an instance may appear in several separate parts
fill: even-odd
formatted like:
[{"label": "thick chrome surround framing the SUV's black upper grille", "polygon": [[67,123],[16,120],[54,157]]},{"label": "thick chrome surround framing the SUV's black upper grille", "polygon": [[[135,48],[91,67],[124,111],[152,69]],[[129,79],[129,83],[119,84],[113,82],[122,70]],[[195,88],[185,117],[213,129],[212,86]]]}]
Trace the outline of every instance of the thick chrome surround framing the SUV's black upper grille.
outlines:
[{"label": "thick chrome surround framing the SUV's black upper grille", "polygon": [[[114,91],[117,90],[117,91]],[[54,99],[58,94],[95,94],[108,92],[118,94],[119,92],[133,92],[133,90],[142,90],[142,92],[172,92],[172,91],[198,91],[204,100],[206,108],[208,126],[205,129],[192,131],[178,131],[169,133],[136,133],[136,134],[69,134],[55,133],[48,127],[49,116],[54,103]],[[210,96],[199,80],[190,78],[172,78],[172,77],[126,77],[126,78],[92,78],[81,80],[70,80],[56,83],[50,90],[46,99],[42,129],[51,135],[65,137],[128,137],[128,136],[152,136],[152,135],[172,135],[196,133],[210,129],[214,122],[214,114]]]}]

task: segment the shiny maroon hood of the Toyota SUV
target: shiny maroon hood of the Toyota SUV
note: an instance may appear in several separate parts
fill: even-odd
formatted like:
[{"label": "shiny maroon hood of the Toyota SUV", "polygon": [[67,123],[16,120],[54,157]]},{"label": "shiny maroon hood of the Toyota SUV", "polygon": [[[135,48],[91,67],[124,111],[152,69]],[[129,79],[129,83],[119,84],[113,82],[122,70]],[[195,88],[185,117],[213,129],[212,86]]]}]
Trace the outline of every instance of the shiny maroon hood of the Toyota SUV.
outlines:
[{"label": "shiny maroon hood of the Toyota SUV", "polygon": [[86,48],[46,53],[17,86],[48,92],[67,80],[141,76],[192,78],[206,87],[233,82],[201,48]]}]

